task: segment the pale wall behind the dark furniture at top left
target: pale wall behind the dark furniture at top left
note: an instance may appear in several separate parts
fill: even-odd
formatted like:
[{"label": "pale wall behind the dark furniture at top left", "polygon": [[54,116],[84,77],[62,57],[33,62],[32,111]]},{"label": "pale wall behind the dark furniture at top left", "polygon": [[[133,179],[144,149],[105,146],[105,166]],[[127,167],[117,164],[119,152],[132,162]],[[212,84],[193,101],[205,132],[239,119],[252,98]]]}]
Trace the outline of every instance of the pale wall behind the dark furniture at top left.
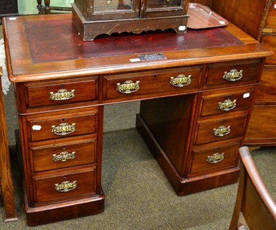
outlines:
[{"label": "pale wall behind the dark furniture at top left", "polygon": [[[37,14],[37,1],[36,0],[18,0],[19,14]],[[50,6],[68,6],[74,0],[51,0]],[[42,0],[42,3],[44,1]]]}]

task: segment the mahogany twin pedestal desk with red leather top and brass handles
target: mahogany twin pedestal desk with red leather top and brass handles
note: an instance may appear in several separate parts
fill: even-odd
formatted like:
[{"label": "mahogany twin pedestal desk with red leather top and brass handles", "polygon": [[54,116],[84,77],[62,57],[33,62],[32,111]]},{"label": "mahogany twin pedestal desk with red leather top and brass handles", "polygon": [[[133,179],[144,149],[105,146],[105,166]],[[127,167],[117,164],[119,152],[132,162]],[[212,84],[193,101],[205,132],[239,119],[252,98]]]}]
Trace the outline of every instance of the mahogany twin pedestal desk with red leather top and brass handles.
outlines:
[{"label": "mahogany twin pedestal desk with red leather top and brass handles", "polygon": [[83,42],[71,17],[3,20],[28,225],[103,211],[110,103],[141,100],[137,129],[179,196],[237,182],[269,50],[232,24]]}]

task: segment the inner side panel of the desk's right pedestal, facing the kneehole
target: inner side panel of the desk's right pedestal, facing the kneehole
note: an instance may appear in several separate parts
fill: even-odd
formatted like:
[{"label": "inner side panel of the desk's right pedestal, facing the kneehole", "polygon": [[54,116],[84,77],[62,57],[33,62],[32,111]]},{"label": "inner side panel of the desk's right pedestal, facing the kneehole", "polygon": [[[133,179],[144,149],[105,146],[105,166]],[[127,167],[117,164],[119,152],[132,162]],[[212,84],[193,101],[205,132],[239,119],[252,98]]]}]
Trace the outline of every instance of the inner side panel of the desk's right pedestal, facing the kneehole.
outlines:
[{"label": "inner side panel of the desk's right pedestal, facing the kneehole", "polygon": [[139,117],[181,174],[193,126],[195,94],[141,101]]}]

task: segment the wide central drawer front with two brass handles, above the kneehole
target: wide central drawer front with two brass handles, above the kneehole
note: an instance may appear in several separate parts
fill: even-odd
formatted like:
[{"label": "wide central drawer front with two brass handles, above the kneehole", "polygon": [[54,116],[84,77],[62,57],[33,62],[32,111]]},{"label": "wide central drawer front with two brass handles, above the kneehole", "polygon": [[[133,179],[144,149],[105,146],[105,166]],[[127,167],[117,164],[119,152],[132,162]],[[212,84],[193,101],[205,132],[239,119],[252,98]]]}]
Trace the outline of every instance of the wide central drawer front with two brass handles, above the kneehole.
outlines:
[{"label": "wide central drawer front with two brass handles, above the kneehole", "polygon": [[103,98],[142,98],[148,94],[189,92],[199,88],[200,76],[201,66],[104,76]]}]

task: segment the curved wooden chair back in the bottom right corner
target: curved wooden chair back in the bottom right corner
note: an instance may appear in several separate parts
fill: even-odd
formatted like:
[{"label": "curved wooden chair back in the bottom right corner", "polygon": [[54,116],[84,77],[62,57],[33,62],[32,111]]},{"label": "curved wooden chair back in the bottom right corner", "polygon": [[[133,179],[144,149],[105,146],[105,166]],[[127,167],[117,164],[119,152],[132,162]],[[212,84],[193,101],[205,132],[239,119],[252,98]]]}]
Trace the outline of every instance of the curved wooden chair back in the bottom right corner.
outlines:
[{"label": "curved wooden chair back in the bottom right corner", "polygon": [[[243,229],[241,217],[250,230],[276,229],[276,202],[266,189],[250,155],[248,147],[239,148],[241,171],[237,200],[230,222],[230,230]],[[240,215],[242,213],[242,215]]]}]

